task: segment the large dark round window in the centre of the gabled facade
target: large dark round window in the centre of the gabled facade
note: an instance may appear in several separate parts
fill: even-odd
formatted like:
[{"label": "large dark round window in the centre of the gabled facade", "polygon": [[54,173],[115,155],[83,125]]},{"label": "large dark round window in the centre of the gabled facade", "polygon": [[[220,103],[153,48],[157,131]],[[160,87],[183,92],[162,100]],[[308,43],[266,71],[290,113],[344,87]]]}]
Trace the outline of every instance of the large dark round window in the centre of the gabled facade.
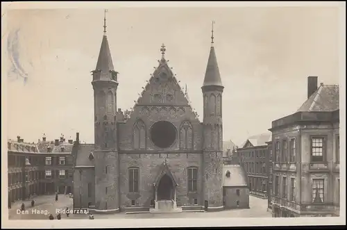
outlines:
[{"label": "large dark round window in the centre of the gabled facade", "polygon": [[155,122],[151,127],[150,135],[155,146],[162,149],[168,148],[176,140],[176,128],[171,122]]}]

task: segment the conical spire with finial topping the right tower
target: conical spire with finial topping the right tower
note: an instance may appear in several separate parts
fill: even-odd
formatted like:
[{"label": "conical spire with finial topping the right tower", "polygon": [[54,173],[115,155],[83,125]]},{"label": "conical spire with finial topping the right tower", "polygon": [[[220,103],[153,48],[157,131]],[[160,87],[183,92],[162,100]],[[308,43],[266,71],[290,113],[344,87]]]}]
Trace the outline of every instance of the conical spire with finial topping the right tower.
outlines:
[{"label": "conical spire with finial topping the right tower", "polygon": [[206,67],[205,79],[203,80],[203,86],[223,86],[221,83],[221,75],[219,74],[219,68],[217,64],[216,54],[214,52],[213,47],[213,24],[212,22],[212,36],[211,36],[211,48],[210,48],[210,56],[208,56],[208,66]]}]

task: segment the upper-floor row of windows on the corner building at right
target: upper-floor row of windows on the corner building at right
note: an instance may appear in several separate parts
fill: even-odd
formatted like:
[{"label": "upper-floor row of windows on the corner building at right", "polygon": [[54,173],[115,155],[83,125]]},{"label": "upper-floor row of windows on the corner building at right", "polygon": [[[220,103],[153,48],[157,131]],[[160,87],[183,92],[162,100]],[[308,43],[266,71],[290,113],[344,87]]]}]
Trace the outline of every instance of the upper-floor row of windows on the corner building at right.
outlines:
[{"label": "upper-floor row of windows on the corner building at right", "polygon": [[[336,162],[339,162],[339,152],[340,152],[340,138],[339,135],[336,136]],[[277,140],[275,145],[275,160],[276,162],[296,162],[296,139],[289,139],[289,147],[287,147],[287,139],[281,141]],[[311,152],[311,162],[324,162],[326,159],[326,149],[325,149],[325,138],[323,137],[312,137],[310,144]]]}]

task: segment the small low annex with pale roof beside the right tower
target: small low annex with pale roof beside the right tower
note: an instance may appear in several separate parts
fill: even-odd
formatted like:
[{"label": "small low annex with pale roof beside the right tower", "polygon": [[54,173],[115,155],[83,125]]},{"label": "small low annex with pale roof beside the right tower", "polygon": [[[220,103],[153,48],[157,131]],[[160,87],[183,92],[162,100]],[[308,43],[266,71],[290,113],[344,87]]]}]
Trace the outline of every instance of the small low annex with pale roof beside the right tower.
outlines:
[{"label": "small low annex with pale roof beside the right tower", "polygon": [[226,209],[249,208],[247,175],[241,165],[223,165],[223,205]]}]

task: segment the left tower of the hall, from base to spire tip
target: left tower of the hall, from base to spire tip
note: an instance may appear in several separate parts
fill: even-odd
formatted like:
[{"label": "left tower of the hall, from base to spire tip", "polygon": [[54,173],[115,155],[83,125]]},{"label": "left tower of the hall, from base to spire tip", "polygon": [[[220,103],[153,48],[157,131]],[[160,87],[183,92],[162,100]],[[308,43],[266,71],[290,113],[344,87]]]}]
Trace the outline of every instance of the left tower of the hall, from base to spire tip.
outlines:
[{"label": "left tower of the hall, from base to spire tip", "polygon": [[[106,10],[105,10],[106,13]],[[95,208],[115,211],[119,208],[117,152],[117,74],[113,67],[104,17],[103,40],[96,68],[92,71],[94,90],[94,163]]]}]

